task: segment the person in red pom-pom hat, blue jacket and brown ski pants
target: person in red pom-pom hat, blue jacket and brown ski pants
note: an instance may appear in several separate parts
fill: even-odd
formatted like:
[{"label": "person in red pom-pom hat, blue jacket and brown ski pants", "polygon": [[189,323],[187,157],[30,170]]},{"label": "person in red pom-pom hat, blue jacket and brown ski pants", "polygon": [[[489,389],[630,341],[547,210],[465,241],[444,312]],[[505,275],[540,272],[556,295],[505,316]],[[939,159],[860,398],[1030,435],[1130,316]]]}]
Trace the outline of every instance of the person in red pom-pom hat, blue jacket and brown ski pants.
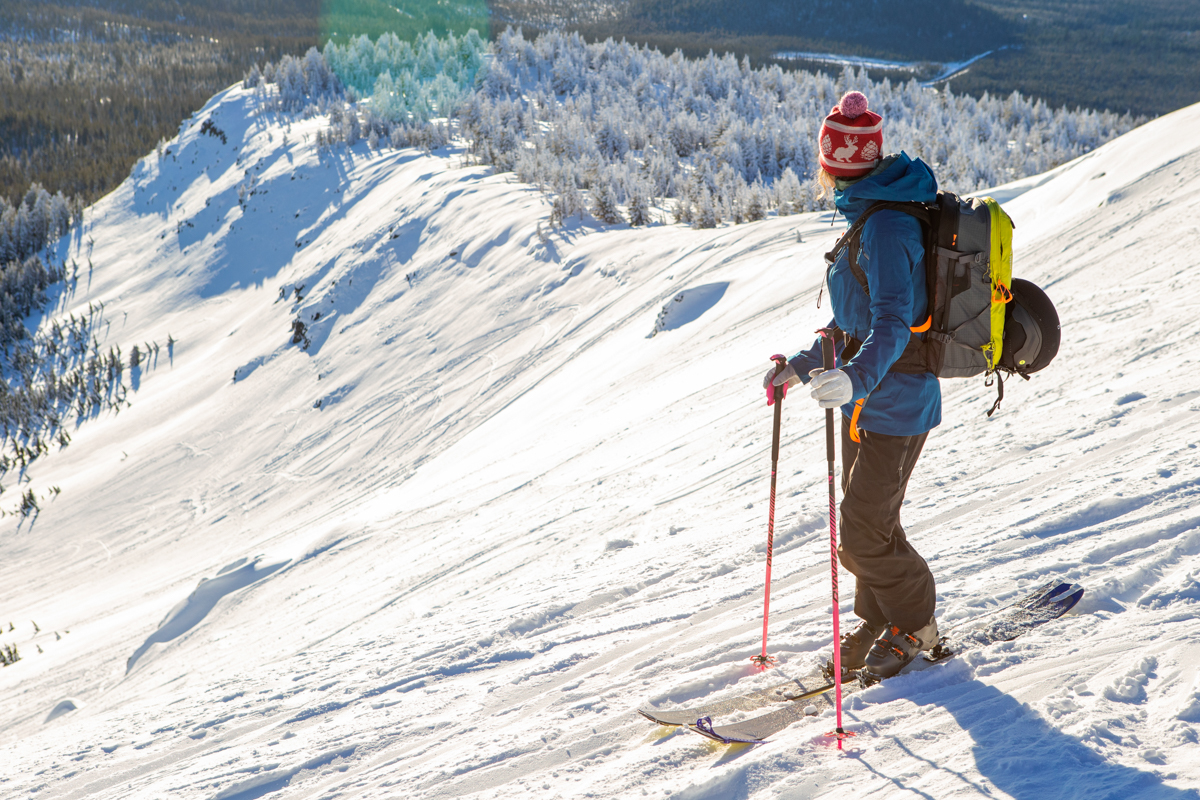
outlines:
[{"label": "person in red pom-pom hat, blue jacket and brown ski pants", "polygon": [[[847,92],[818,133],[822,196],[830,190],[851,223],[878,200],[931,203],[937,179],[906,154],[882,156],[883,119],[862,92]],[[862,622],[841,637],[844,669],[889,678],[937,644],[934,576],[900,525],[900,506],[929,431],[942,420],[942,395],[929,372],[889,371],[929,317],[920,223],[901,211],[870,216],[854,278],[848,253],[829,267],[828,335],[836,369],[821,368],[821,339],[788,360],[763,386],[809,384],[821,408],[841,408],[841,564],[856,578]],[[836,330],[834,330],[836,329]],[[919,335],[919,333],[918,333]]]}]

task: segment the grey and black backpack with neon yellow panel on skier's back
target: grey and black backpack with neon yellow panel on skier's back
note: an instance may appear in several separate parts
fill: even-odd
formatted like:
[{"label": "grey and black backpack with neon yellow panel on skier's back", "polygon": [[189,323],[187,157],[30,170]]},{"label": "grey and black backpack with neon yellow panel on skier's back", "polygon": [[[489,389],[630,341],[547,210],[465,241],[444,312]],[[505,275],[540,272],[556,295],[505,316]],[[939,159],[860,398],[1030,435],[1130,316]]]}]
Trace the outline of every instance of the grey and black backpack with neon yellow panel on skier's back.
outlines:
[{"label": "grey and black backpack with neon yellow panel on skier's back", "polygon": [[[826,263],[833,266],[848,249],[850,271],[870,296],[866,272],[858,264],[863,225],[877,211],[916,217],[925,234],[925,287],[929,319],[912,329],[908,344],[889,372],[930,372],[938,378],[996,377],[997,398],[1004,398],[1002,373],[1030,374],[1045,368],[1058,351],[1058,314],[1042,289],[1013,279],[1013,221],[1000,204],[938,192],[935,203],[875,203],[842,234]],[[924,333],[924,336],[922,336]],[[842,359],[862,342],[846,336]]]}]

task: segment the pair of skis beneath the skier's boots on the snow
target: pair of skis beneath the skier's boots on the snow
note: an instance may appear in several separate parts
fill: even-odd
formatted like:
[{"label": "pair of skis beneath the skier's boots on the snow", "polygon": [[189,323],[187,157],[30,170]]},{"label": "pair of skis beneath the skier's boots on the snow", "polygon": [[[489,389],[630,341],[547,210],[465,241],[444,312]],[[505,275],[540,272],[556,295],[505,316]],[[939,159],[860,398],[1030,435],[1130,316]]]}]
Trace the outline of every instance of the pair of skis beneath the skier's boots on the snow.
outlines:
[{"label": "pair of skis beneath the skier's boots on the snow", "polygon": [[[1078,584],[1051,582],[1039,587],[1016,602],[986,614],[982,621],[972,622],[967,630],[961,632],[952,630],[947,636],[942,637],[941,644],[929,654],[924,654],[917,658],[901,674],[935,666],[968,648],[985,646],[994,642],[1015,639],[1038,625],[1062,616],[1079,602],[1082,595],[1084,588]],[[802,700],[816,700],[821,698],[823,702],[828,702],[822,696],[834,688],[833,682],[829,680],[830,676],[832,674],[828,672],[828,667],[826,667],[809,679],[790,680],[776,686],[726,698],[715,703],[706,703],[703,705],[671,711],[640,709],[638,712],[650,722],[672,727],[684,726],[695,733],[724,744],[758,744],[767,736],[782,730],[806,716],[806,704],[803,704]],[[847,675],[846,680],[856,678],[859,676]],[[862,682],[859,680],[859,684]],[[778,703],[785,703],[786,705],[750,720],[730,724],[713,724],[713,717],[728,716],[739,711],[754,711]]]}]

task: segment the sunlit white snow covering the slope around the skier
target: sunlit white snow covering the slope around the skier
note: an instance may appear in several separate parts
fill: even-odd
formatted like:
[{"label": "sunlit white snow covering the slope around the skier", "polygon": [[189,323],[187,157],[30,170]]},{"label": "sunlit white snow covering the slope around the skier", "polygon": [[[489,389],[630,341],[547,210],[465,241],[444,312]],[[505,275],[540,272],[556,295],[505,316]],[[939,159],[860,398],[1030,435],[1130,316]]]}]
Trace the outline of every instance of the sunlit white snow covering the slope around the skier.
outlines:
[{"label": "sunlit white snow covering the slope around the skier", "polygon": [[994,389],[943,381],[905,507],[947,625],[1087,595],[848,698],[839,753],[828,711],[757,747],[636,714],[828,652],[824,417],[796,392],[781,663],[749,663],[761,378],[827,321],[829,215],[550,229],[461,150],[319,151],[324,120],[223,92],[61,245],[94,269],[53,314],[102,301],[102,347],[174,345],[6,517],[0,794],[1198,796],[1198,122],[1004,190],[1062,349],[990,420]]}]

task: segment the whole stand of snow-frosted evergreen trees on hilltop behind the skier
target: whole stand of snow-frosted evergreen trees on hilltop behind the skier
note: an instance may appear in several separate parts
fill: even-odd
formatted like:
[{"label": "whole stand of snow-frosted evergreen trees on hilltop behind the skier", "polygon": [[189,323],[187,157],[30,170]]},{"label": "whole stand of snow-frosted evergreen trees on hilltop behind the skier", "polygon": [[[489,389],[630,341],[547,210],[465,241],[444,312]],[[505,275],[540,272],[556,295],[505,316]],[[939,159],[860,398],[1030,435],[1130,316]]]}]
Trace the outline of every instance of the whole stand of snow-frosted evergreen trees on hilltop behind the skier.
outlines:
[{"label": "whole stand of snow-frosted evergreen trees on hilltop behind the skier", "polygon": [[[323,144],[367,137],[432,148],[457,136],[476,163],[550,193],[558,222],[586,209],[608,216],[608,192],[626,204],[631,223],[643,218],[632,205],[652,198],[695,225],[823,207],[829,198],[811,181],[816,133],[851,89],[886,118],[888,151],[923,158],[942,188],[960,193],[1044,172],[1138,124],[1051,109],[1018,92],[976,98],[916,80],[871,82],[853,70],[752,70],[731,55],[688,59],[563,32],[527,40],[506,30],[491,46],[474,32],[413,43],[358,37],[260,74],[281,98],[307,92],[289,108],[328,109]],[[336,101],[319,101],[320,91]]]}]

